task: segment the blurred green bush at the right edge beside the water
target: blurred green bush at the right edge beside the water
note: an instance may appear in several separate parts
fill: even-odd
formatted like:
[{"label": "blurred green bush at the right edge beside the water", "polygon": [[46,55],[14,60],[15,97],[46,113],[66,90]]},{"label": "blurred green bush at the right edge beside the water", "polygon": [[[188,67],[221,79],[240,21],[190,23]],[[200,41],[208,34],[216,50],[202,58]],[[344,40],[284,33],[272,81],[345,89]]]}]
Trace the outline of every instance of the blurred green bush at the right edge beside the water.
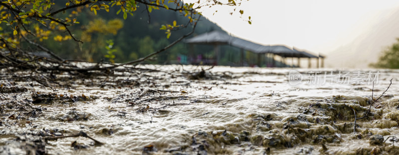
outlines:
[{"label": "blurred green bush at the right edge beside the water", "polygon": [[375,64],[370,64],[371,67],[375,68],[388,68],[388,69],[399,69],[399,38],[397,42],[389,46],[384,50]]}]

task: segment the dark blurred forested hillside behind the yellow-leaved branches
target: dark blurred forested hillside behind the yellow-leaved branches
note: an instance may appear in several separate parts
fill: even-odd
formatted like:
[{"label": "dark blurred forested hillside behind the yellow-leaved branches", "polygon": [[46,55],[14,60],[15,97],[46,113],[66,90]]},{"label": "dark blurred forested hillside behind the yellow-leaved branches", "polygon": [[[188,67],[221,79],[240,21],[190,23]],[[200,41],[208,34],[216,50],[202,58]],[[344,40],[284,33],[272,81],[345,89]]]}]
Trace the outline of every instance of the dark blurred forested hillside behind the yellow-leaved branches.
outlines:
[{"label": "dark blurred forested hillside behind the yellow-leaved branches", "polygon": [[[110,12],[117,12],[117,9],[112,7]],[[172,23],[174,20],[178,25],[186,24],[188,19],[165,9],[152,10],[150,17],[145,6],[138,7],[136,13],[133,16],[128,14],[126,20],[123,20],[121,14],[105,11],[97,13],[98,15],[95,15],[88,9],[83,9],[77,17],[80,24],[71,28],[76,37],[84,42],[82,45],[72,39],[60,42],[62,38],[56,38],[57,36],[49,36],[47,40],[43,40],[44,45],[63,58],[109,62],[109,57],[114,55],[114,61],[122,63],[159,50],[191,30],[191,27],[188,27],[173,31],[168,39],[164,31],[160,30],[161,25]],[[221,28],[202,17],[192,36],[212,30]],[[113,46],[109,46],[111,42]],[[112,48],[106,49],[107,46]],[[170,64],[176,62],[179,54],[187,54],[188,50],[184,42],[180,42],[147,63]]]}]

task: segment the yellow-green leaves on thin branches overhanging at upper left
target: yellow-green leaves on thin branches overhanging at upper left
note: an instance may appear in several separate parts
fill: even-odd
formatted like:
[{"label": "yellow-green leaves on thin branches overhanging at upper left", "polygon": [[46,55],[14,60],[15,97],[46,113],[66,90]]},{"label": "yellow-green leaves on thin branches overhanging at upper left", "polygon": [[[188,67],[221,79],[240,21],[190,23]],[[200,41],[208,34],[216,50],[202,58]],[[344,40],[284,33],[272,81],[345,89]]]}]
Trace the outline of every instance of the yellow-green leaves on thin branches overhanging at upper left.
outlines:
[{"label": "yellow-green leaves on thin branches overhanging at upper left", "polygon": [[[128,18],[128,14],[133,16],[140,6],[145,6],[149,14],[160,8],[179,12],[187,17],[189,22],[178,24],[175,20],[171,24],[161,25],[160,29],[164,30],[166,37],[169,38],[172,31],[196,22],[201,14],[197,10],[201,7],[237,6],[241,0],[228,0],[226,3],[222,1],[199,0],[196,3],[185,3],[182,0],[1,0],[0,28],[5,31],[0,33],[2,42],[0,48],[17,48],[21,41],[20,38],[28,39],[29,35],[39,41],[46,40],[52,35],[51,38],[58,42],[73,39],[83,43],[84,40],[80,40],[72,34],[70,27],[80,23],[77,21],[77,16],[84,8],[89,8],[97,15],[100,10],[109,12],[112,7],[115,7],[118,9],[116,14],[122,14],[124,19]],[[243,14],[243,10],[239,10],[239,13]],[[105,31],[116,34],[122,25],[118,20],[110,20],[108,25],[112,26],[105,27],[101,20],[93,22],[97,26],[92,30],[87,30],[86,33]]]}]

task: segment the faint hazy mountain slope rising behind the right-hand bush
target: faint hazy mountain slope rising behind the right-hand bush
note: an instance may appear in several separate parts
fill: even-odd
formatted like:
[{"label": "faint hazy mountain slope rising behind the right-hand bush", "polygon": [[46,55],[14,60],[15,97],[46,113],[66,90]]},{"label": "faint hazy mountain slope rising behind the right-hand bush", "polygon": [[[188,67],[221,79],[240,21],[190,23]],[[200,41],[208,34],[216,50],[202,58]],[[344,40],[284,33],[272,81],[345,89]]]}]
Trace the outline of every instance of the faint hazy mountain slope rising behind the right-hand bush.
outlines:
[{"label": "faint hazy mountain slope rising behind the right-hand bush", "polygon": [[326,67],[368,68],[377,62],[381,52],[399,37],[398,16],[399,11],[394,12],[353,42],[327,53]]}]

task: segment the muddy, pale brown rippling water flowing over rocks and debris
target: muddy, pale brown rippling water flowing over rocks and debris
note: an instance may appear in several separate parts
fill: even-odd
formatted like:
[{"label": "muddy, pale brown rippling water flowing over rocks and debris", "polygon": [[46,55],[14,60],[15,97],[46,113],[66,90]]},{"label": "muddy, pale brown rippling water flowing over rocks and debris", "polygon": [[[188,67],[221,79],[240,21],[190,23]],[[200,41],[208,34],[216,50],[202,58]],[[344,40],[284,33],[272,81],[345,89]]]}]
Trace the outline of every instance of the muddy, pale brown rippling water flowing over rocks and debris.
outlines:
[{"label": "muddy, pale brown rippling water flowing over rocks and debris", "polygon": [[[118,85],[30,87],[0,95],[0,154],[26,154],[45,136],[52,155],[395,155],[399,71],[143,66],[162,72]],[[209,68],[209,67],[204,67]],[[193,71],[193,74],[184,74]],[[197,72],[197,73],[199,73]],[[349,73],[344,76],[346,73]],[[302,81],[290,83],[292,75]],[[291,78],[290,78],[291,75]],[[371,75],[371,76],[370,76]],[[160,78],[162,77],[162,78]],[[349,78],[348,78],[349,77]],[[375,80],[374,92],[373,79]],[[324,80],[326,79],[327,80]],[[393,78],[393,79],[392,79]],[[345,81],[347,79],[347,81]],[[392,85],[371,107],[374,100]],[[11,82],[0,81],[2,87]],[[75,83],[76,82],[76,83]],[[126,82],[125,82],[126,83]],[[18,108],[19,106],[19,108]],[[381,138],[383,138],[381,140]],[[72,145],[72,143],[74,143]],[[42,146],[43,148],[43,146]]]}]

